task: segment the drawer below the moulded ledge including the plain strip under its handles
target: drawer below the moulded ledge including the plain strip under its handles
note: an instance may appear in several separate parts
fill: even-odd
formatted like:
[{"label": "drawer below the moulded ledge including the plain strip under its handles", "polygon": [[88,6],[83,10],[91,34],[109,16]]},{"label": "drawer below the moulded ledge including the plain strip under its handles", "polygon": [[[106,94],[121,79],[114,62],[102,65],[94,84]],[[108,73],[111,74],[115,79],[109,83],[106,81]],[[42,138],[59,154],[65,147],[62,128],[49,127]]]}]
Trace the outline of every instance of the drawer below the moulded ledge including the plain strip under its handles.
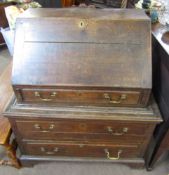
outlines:
[{"label": "drawer below the moulded ledge including the plain strip under its handles", "polygon": [[143,123],[98,120],[16,120],[17,131],[24,139],[104,140],[142,142],[150,127]]}]

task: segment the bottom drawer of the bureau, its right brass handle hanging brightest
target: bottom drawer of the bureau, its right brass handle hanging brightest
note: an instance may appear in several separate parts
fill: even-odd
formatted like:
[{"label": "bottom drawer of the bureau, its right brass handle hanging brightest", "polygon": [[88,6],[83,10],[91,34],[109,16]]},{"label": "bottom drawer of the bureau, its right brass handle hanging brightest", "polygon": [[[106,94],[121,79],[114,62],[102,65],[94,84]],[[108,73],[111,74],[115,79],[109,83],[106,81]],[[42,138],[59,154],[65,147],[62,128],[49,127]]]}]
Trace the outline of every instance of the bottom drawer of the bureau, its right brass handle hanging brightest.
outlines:
[{"label": "bottom drawer of the bureau, its right brass handle hanging brightest", "polygon": [[23,154],[26,155],[100,157],[113,160],[141,156],[138,145],[27,142],[23,144],[23,149]]}]

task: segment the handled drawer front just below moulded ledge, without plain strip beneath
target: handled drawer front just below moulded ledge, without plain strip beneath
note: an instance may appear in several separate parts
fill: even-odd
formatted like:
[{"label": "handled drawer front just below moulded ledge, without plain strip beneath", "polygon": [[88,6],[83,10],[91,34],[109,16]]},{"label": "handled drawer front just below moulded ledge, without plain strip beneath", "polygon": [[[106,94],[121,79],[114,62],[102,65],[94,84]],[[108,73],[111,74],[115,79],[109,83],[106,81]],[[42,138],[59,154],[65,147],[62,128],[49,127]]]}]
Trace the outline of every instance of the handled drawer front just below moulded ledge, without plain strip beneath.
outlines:
[{"label": "handled drawer front just below moulded ledge, without plain strip beneath", "polygon": [[[32,131],[63,132],[63,133],[100,133],[110,135],[145,135],[146,129],[151,126],[146,123],[119,122],[99,120],[16,120],[20,132]],[[37,126],[38,125],[38,126]],[[126,128],[126,131],[125,131]],[[121,133],[121,134],[120,134]]]}]

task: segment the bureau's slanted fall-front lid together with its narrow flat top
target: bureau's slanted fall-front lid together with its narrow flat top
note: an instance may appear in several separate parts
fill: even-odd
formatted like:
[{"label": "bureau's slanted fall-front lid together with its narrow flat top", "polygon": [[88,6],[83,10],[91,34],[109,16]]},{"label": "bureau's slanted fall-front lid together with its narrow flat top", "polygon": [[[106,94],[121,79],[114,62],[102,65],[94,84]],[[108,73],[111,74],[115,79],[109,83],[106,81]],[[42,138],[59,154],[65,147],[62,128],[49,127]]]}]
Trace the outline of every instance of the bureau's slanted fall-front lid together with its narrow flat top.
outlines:
[{"label": "bureau's slanted fall-front lid together with its narrow flat top", "polygon": [[31,9],[16,24],[13,85],[151,88],[139,10]]}]

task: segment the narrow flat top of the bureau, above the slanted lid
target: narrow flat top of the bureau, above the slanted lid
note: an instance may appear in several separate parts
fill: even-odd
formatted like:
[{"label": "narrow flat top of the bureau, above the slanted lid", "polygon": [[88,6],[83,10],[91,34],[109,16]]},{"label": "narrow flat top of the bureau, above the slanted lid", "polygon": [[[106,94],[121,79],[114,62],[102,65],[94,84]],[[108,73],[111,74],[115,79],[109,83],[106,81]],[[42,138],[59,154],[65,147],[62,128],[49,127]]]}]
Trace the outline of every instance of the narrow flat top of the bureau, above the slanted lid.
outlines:
[{"label": "narrow flat top of the bureau, above the slanted lid", "polygon": [[38,8],[28,9],[19,18],[97,18],[103,20],[148,20],[143,10],[93,8]]}]

